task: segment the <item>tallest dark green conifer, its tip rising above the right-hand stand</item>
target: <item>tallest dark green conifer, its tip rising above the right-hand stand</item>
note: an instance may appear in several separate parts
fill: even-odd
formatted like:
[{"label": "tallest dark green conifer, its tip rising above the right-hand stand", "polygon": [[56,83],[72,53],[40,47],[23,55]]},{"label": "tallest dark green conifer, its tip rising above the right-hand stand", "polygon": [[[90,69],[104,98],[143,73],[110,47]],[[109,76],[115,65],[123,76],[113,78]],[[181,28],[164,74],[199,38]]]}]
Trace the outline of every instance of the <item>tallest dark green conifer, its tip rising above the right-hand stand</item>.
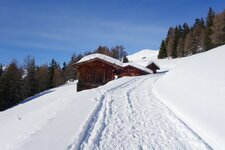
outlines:
[{"label": "tallest dark green conifer, its tip rising above the right-hand stand", "polygon": [[205,35],[204,35],[204,50],[207,51],[213,48],[211,35],[212,35],[212,26],[213,26],[213,19],[215,18],[215,12],[212,8],[209,8],[208,15],[206,18],[206,27],[205,27]]}]

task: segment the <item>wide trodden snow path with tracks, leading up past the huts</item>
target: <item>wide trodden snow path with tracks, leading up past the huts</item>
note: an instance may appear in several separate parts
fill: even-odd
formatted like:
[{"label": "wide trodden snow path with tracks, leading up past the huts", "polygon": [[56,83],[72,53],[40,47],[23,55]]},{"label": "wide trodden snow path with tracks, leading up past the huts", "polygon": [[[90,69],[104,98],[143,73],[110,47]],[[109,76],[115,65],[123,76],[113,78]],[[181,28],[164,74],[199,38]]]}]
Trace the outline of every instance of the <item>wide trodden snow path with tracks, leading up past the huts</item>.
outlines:
[{"label": "wide trodden snow path with tracks, leading up past the huts", "polygon": [[211,149],[151,94],[158,77],[137,77],[101,91],[74,149]]}]

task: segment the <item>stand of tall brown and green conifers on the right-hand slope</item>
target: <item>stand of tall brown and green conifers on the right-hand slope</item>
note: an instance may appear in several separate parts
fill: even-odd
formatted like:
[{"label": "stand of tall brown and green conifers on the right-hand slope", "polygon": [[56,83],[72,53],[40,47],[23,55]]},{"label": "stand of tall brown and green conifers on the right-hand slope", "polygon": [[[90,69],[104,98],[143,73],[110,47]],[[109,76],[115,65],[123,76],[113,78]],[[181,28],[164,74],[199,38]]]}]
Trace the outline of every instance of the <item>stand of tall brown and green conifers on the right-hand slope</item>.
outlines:
[{"label": "stand of tall brown and green conifers on the right-hand slope", "polygon": [[[170,27],[165,39],[167,57],[172,58],[193,55],[223,44],[225,44],[225,10],[215,14],[212,8],[209,8],[206,24],[203,18],[197,18],[191,27],[187,23],[182,27],[180,25]],[[161,52],[158,58],[162,58]]]}]

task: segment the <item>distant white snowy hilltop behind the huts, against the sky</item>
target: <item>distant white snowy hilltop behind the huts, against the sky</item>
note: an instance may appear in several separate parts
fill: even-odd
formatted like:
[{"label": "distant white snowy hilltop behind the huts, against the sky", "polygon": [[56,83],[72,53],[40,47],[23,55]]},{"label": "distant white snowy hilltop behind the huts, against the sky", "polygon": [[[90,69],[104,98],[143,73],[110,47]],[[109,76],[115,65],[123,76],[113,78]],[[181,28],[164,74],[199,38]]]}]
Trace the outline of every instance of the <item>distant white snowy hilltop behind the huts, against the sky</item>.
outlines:
[{"label": "distant white snowy hilltop behind the huts, against the sky", "polygon": [[127,56],[129,61],[138,61],[138,60],[145,60],[145,59],[156,59],[158,55],[158,50],[149,50],[144,49],[140,50],[137,53]]}]

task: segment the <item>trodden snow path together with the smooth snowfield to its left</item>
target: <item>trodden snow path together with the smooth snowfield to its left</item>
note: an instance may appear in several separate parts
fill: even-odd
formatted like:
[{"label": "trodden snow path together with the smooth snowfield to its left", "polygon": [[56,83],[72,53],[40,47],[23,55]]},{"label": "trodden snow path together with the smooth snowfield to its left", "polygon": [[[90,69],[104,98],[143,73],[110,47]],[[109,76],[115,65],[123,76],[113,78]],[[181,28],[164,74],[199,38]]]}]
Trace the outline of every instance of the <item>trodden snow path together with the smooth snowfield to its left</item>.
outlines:
[{"label": "trodden snow path together with the smooth snowfield to its left", "polygon": [[77,93],[68,83],[36,95],[0,113],[0,147],[211,149],[151,94],[160,76],[124,77]]}]

